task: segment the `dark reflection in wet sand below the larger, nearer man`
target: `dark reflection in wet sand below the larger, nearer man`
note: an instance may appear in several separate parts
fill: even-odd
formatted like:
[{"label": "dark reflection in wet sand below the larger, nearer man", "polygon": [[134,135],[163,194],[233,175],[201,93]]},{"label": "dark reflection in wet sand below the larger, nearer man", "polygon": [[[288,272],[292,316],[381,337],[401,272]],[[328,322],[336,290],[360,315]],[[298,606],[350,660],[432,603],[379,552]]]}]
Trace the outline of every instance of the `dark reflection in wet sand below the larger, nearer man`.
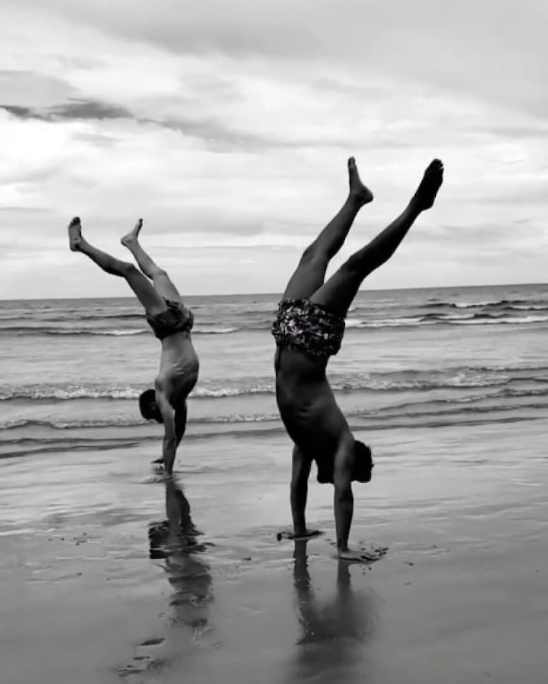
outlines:
[{"label": "dark reflection in wet sand below the larger, nearer man", "polygon": [[[337,593],[332,600],[319,603],[308,569],[307,541],[295,542],[294,588],[302,638],[297,642],[294,679],[301,681],[367,680],[364,664],[365,643],[374,633],[376,615],[371,595],[354,592],[350,581],[350,563],[337,564]],[[363,567],[363,566],[362,566]],[[319,678],[319,679],[315,679]]]}]

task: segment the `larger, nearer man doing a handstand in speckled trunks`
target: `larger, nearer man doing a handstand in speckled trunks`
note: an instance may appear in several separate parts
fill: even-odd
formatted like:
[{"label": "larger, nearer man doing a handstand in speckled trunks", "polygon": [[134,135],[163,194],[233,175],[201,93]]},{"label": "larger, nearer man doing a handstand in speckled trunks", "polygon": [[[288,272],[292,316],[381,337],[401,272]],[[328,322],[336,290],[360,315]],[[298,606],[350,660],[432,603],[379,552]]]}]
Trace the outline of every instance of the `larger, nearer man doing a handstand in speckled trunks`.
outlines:
[{"label": "larger, nearer man doing a handstand in speckled trunks", "polygon": [[339,351],[344,321],[364,278],[387,261],[422,211],[432,207],[443,181],[443,165],[432,161],[403,213],[367,246],[325,280],[327,265],[342,247],[365,204],[373,199],[360,181],[354,158],[348,161],[349,195],[337,216],[302,255],[289,280],[272,334],[274,368],[282,421],[294,442],[291,507],[295,538],[317,534],[307,528],[308,479],[317,463],[318,481],[334,485],[337,551],[344,560],[367,560],[349,549],[354,498],[352,481],[369,482],[371,450],[357,441],[335,401],[326,377],[329,357]]}]

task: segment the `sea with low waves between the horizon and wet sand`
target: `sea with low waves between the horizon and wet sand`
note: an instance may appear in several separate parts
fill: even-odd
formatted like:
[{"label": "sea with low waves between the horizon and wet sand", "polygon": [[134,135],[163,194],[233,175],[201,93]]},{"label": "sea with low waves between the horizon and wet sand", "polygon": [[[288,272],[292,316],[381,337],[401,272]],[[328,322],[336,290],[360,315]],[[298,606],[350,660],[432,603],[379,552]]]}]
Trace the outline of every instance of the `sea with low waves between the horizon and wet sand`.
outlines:
[{"label": "sea with low waves between the horizon and wet sand", "polygon": [[[189,436],[283,430],[278,299],[185,299],[201,361]],[[329,378],[373,448],[374,431],[395,427],[533,421],[548,408],[547,332],[548,285],[363,291]],[[136,402],[159,351],[132,298],[1,301],[0,458],[140,440],[159,455],[161,427]]]}]

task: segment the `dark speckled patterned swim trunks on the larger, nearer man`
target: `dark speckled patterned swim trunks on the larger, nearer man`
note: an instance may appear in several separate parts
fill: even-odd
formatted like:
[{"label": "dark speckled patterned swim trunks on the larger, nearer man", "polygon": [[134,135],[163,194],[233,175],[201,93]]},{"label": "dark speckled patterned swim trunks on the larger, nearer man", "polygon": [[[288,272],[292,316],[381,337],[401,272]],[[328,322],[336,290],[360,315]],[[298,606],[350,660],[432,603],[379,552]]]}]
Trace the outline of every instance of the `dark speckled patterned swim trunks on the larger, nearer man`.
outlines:
[{"label": "dark speckled patterned swim trunks on the larger, nearer man", "polygon": [[272,334],[280,347],[328,358],[341,348],[344,318],[308,299],[286,299],[279,303]]}]

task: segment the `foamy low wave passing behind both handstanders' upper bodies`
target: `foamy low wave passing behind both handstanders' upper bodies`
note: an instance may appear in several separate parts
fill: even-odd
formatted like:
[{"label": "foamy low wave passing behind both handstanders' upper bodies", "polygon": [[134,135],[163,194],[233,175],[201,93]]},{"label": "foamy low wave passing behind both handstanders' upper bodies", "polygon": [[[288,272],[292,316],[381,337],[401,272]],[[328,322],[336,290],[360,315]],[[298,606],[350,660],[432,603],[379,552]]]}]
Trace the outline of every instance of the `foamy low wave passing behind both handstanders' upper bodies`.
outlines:
[{"label": "foamy low wave passing behind both handstanders' upper bodies", "polygon": [[[398,392],[406,390],[429,391],[444,388],[497,387],[512,383],[548,383],[548,366],[462,366],[444,368],[442,371],[409,370],[386,373],[367,373],[362,376],[329,375],[332,387],[342,393],[356,391]],[[0,387],[0,401],[71,401],[76,399],[136,399],[143,386],[79,385],[27,385]],[[271,377],[228,378],[200,384],[192,398],[229,398],[256,394],[273,394]]]}]

